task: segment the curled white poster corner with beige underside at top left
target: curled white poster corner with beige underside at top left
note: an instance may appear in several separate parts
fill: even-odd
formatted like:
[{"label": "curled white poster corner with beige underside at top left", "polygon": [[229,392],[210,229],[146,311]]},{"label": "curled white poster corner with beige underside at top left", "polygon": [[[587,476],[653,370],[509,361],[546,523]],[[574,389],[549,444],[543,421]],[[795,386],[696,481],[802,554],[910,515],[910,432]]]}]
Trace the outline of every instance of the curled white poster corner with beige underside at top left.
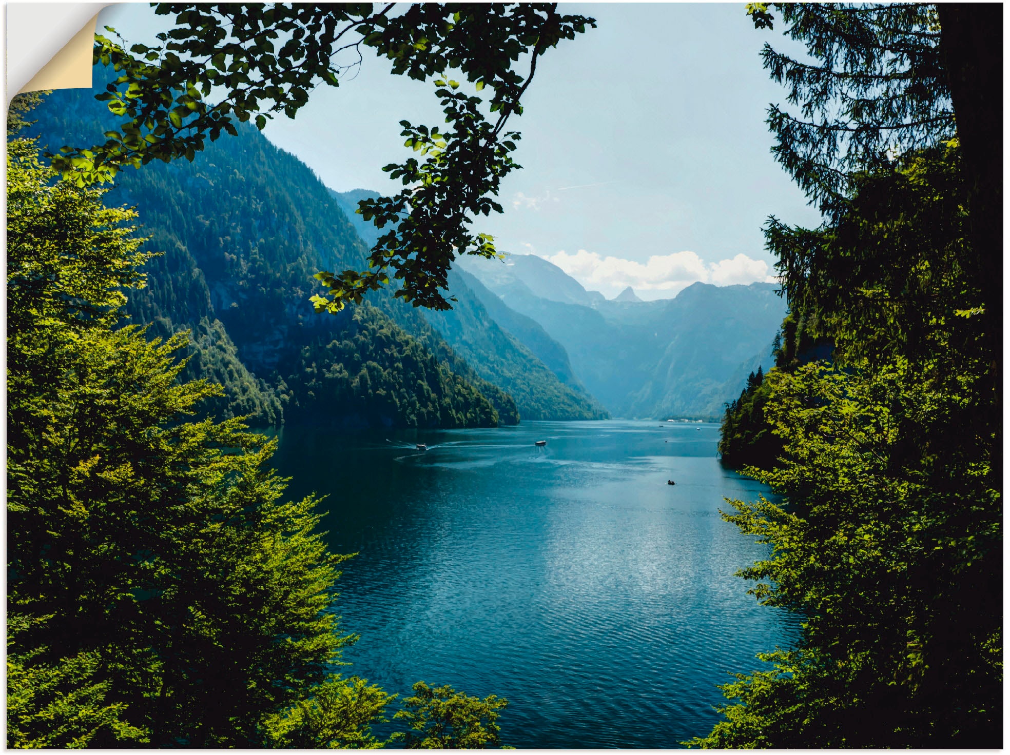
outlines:
[{"label": "curled white poster corner with beige underside at top left", "polygon": [[7,4],[7,104],[40,89],[90,88],[98,12],[108,3]]}]

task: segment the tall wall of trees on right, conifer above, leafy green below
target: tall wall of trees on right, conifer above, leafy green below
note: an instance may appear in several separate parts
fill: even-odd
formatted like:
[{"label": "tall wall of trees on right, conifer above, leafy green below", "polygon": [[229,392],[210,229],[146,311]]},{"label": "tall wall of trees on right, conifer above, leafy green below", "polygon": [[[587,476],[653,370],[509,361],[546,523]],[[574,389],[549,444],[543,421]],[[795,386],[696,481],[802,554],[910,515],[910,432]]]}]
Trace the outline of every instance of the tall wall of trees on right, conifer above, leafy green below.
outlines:
[{"label": "tall wall of trees on right, conifer above, leafy green below", "polygon": [[[777,7],[823,65],[766,47],[805,116],[770,110],[775,150],[825,221],[766,226],[796,336],[784,324],[765,381],[783,450],[746,471],[783,503],[726,518],[772,546],[741,574],[803,632],[724,687],[736,703],[692,744],[999,746],[1002,326],[949,106],[965,50],[944,48],[932,6]],[[803,363],[804,331],[834,365]]]}]

